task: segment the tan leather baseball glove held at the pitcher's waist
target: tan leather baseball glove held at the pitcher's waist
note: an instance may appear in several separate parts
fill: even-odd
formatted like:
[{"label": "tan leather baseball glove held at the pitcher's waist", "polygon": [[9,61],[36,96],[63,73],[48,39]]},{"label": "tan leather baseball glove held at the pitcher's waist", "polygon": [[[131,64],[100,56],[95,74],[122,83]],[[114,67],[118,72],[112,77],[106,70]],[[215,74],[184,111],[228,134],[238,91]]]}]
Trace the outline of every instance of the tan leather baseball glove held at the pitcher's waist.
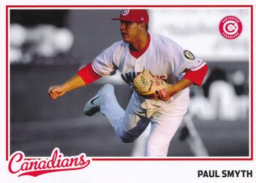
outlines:
[{"label": "tan leather baseball glove held at the pitcher's waist", "polygon": [[154,77],[148,70],[144,70],[133,79],[135,91],[148,99],[169,100],[170,96],[167,93],[167,85],[167,82]]}]

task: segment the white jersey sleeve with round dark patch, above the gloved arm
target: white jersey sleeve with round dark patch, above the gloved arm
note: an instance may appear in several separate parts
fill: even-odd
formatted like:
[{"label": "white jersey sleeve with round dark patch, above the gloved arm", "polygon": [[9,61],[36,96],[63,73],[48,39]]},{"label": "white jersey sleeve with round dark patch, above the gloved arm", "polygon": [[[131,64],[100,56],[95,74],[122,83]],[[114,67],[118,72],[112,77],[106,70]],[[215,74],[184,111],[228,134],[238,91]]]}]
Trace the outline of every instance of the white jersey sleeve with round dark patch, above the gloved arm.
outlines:
[{"label": "white jersey sleeve with round dark patch, above the gloved arm", "polygon": [[173,42],[169,49],[170,64],[176,77],[184,71],[197,71],[206,65],[206,62],[192,54],[189,50],[184,50],[175,42]]}]

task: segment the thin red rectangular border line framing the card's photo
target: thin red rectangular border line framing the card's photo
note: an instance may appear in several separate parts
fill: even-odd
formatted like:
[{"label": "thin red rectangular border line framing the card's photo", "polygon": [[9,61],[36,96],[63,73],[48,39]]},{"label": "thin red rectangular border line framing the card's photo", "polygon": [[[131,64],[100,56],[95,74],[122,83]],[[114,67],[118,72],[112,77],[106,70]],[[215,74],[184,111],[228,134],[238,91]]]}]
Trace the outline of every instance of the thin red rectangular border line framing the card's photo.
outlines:
[{"label": "thin red rectangular border line framing the card's photo", "polygon": [[9,124],[8,124],[8,115],[9,115],[9,104],[8,104],[8,96],[9,96],[9,82],[8,82],[8,69],[9,69],[9,63],[8,63],[8,28],[9,28],[9,9],[10,8],[75,8],[75,7],[87,7],[87,8],[99,8],[99,7],[249,7],[251,10],[251,156],[246,157],[246,158],[234,158],[234,157],[225,157],[225,158],[180,158],[180,157],[174,157],[174,158],[91,158],[92,160],[95,161],[109,161],[109,160],[142,160],[142,161],[147,161],[147,160],[253,160],[253,5],[7,5],[6,6],[6,160],[8,160],[9,156]]}]

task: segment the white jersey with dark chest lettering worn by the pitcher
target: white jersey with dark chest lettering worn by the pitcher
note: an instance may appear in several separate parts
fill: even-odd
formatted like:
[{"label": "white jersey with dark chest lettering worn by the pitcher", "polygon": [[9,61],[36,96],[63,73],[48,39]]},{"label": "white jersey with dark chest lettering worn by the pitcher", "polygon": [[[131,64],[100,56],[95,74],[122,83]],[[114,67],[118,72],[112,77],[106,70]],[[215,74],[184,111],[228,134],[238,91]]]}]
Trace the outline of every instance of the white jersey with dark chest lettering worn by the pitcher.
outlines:
[{"label": "white jersey with dark chest lettering worn by the pitcher", "polygon": [[[134,77],[143,70],[149,70],[154,76],[169,84],[175,84],[187,69],[197,71],[205,65],[204,61],[173,40],[165,36],[151,35],[148,49],[139,58],[129,52],[129,44],[124,41],[115,42],[94,59],[92,68],[101,76],[113,75],[118,69],[122,79],[129,85],[132,85]],[[181,96],[181,93],[189,95],[188,91],[188,88],[182,90],[174,98]]]}]

